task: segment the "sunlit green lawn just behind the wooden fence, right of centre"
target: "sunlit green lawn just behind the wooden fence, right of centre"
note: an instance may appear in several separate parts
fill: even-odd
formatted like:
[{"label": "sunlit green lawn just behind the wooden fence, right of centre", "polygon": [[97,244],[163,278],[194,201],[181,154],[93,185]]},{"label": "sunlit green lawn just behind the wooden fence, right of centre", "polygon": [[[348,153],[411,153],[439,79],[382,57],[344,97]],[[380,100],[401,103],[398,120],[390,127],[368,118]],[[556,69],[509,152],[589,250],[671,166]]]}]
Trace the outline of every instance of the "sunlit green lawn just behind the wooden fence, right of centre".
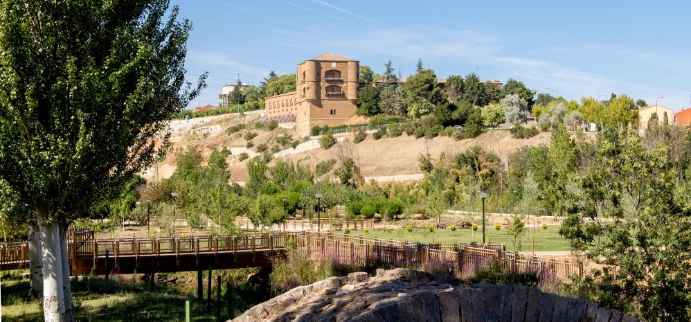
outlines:
[{"label": "sunlit green lawn just behind the wooden fence, right of centre", "polygon": [[[431,243],[432,240],[441,244],[454,244],[479,242],[483,240],[482,227],[479,226],[477,231],[472,229],[435,229],[434,233],[430,233],[427,229],[413,229],[412,232],[405,229],[393,229],[391,233],[382,230],[370,230],[365,233],[363,230],[353,230],[351,234],[363,235],[369,238],[383,238],[391,240],[406,240],[409,242],[424,242]],[[514,251],[514,241],[509,235],[506,227],[502,227],[497,231],[492,227],[487,226],[486,231],[487,242],[506,244],[507,251]],[[521,251],[531,251],[532,238],[535,238],[535,251],[568,251],[568,241],[559,235],[559,227],[548,226],[547,229],[538,228],[537,231],[530,229],[521,239],[523,247]]]}]

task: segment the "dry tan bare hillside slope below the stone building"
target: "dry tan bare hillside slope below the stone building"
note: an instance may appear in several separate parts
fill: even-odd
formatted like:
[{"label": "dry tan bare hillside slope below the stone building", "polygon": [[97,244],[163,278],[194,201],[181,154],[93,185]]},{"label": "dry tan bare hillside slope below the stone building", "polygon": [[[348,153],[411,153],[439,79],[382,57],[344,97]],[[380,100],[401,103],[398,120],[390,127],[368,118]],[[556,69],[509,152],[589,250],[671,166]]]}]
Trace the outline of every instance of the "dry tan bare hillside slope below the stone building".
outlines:
[{"label": "dry tan bare hillside slope below the stone building", "polygon": [[[228,147],[233,154],[228,156],[228,168],[232,173],[231,180],[242,182],[247,178],[246,160],[240,161],[238,154],[248,152],[250,156],[257,154],[256,146],[260,143],[267,143],[269,147],[276,145],[273,143],[278,136],[295,134],[289,129],[274,129],[268,131],[266,129],[244,129],[237,133],[228,134],[226,129],[232,125],[237,125],[243,121],[250,123],[255,120],[257,116],[246,116],[242,120],[239,116],[215,117],[208,120],[201,125],[195,125],[192,128],[199,128],[201,126],[220,125],[221,129],[217,132],[208,134],[208,136],[195,136],[186,132],[177,131],[177,134],[172,137],[172,147],[169,149],[166,159],[159,164],[160,178],[170,177],[175,169],[174,152],[181,149],[186,149],[189,146],[197,148],[204,158],[208,158],[213,150],[222,147]],[[246,132],[254,132],[258,134],[253,141],[255,147],[247,148],[246,142],[243,138]],[[284,147],[282,150],[274,154],[274,161],[276,159],[283,159],[287,161],[297,161],[316,166],[320,161],[328,159],[341,159],[340,156],[351,156],[355,159],[361,169],[361,174],[368,178],[386,177],[386,176],[402,176],[415,175],[420,173],[418,167],[418,157],[420,154],[429,154],[433,159],[444,152],[446,154],[456,154],[463,152],[474,145],[481,145],[487,150],[492,150],[498,154],[505,162],[508,155],[520,149],[521,147],[533,146],[539,144],[548,144],[550,141],[550,134],[541,133],[533,138],[517,139],[512,138],[508,132],[490,130],[487,133],[478,136],[477,138],[464,139],[460,141],[454,140],[447,136],[438,136],[431,140],[424,138],[414,138],[403,134],[397,138],[382,138],[375,140],[371,134],[361,143],[355,144],[352,141],[354,134],[337,134],[339,142],[336,143],[329,150],[323,150],[318,147],[317,138],[312,138],[309,141],[303,139],[303,143],[298,145],[296,149],[291,147]],[[287,155],[288,154],[288,155]],[[154,172],[151,169],[147,171],[145,177],[147,179],[154,178]],[[384,179],[384,178],[380,178]],[[399,178],[400,179],[400,178]]]}]

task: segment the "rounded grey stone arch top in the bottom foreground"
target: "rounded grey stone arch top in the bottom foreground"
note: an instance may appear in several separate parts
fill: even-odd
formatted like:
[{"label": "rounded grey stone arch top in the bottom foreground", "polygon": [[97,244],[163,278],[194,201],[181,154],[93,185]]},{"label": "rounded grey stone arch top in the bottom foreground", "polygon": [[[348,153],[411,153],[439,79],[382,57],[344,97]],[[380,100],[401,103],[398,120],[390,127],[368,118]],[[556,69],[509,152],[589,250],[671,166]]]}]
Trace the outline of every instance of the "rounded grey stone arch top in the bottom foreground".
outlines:
[{"label": "rounded grey stone arch top in the bottom foreground", "polygon": [[515,285],[460,285],[413,269],[353,273],[300,286],[255,305],[233,322],[633,322],[591,301]]}]

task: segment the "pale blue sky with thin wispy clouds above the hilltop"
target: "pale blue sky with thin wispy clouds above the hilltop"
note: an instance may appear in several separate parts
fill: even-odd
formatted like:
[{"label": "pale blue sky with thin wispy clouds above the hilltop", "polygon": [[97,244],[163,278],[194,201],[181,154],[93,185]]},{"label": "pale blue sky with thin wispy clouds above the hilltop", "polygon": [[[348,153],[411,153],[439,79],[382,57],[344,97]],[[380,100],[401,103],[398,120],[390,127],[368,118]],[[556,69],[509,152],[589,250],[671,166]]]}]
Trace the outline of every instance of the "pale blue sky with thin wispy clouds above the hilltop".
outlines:
[{"label": "pale blue sky with thin wispy clouds above the hilltop", "polygon": [[[173,0],[192,21],[187,69],[208,71],[190,104],[217,104],[222,84],[259,84],[269,71],[325,52],[404,77],[418,58],[437,77],[523,81],[567,99],[627,93],[672,109],[691,105],[687,1]],[[602,98],[601,98],[602,99]]]}]

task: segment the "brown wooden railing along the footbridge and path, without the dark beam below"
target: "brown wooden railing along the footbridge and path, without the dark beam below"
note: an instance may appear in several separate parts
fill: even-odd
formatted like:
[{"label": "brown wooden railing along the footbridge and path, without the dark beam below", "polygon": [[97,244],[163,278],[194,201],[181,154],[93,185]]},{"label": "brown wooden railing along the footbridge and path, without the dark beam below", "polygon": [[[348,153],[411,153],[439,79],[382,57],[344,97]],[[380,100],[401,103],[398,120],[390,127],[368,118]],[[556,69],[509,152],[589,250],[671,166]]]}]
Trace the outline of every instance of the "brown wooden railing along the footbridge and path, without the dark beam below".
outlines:
[{"label": "brown wooden railing along the footbridge and path, without the dark beam below", "polygon": [[[71,235],[68,244],[74,269],[78,260],[92,260],[93,267],[96,267],[98,258],[104,258],[106,251],[116,262],[118,258],[138,261],[145,256],[175,256],[179,265],[181,256],[284,250],[289,239],[295,241],[298,249],[320,253],[344,265],[418,267],[464,275],[496,263],[517,273],[550,274],[559,278],[583,274],[580,261],[507,253],[503,244],[420,244],[339,233],[245,233],[125,239],[96,239],[93,233],[78,233]],[[3,270],[28,267],[26,242],[1,244],[0,265]]]}]

